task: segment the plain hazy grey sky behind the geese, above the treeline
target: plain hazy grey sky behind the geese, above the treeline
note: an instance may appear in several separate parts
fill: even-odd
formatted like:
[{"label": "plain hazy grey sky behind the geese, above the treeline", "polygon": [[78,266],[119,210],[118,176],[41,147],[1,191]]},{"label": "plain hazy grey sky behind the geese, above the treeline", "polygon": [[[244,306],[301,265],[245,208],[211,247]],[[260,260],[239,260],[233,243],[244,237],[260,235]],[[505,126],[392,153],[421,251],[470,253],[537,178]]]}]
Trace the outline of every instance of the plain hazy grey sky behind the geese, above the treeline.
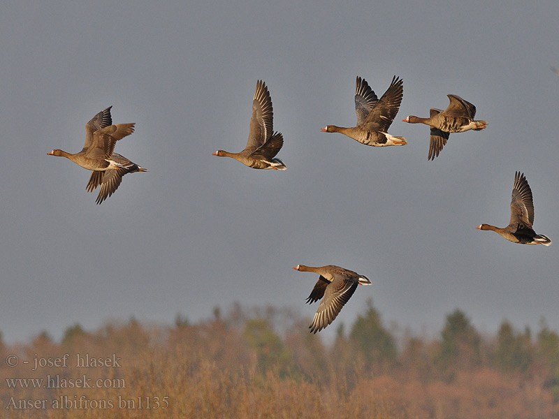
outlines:
[{"label": "plain hazy grey sky behind the geese, above the treeline", "polygon": [[[336,322],[372,297],[386,323],[437,332],[463,309],[481,330],[507,318],[559,329],[559,3],[510,1],[7,1],[0,15],[0,330],[57,339],[69,325],[173,323],[227,309],[305,305],[334,264],[368,276]],[[404,80],[375,148],[354,126],[356,75],[381,96]],[[256,80],[268,84],[285,172],[217,149],[245,147]],[[477,106],[485,131],[452,134],[428,161],[429,128],[401,122]],[[150,170],[126,175],[102,205],[78,152],[85,124],[112,105],[136,122],[116,152]],[[513,244],[514,172],[525,173],[535,230]]]}]

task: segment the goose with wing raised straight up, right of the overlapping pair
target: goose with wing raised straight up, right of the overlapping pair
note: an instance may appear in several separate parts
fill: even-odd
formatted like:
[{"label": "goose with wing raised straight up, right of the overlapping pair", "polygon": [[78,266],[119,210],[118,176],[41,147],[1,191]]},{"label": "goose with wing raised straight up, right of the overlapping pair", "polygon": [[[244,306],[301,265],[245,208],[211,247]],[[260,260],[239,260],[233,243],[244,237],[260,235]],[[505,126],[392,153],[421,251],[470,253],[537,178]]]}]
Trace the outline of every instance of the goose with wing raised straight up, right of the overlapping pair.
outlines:
[{"label": "goose with wing raised straight up, right of the overlapping pair", "polygon": [[242,152],[230,153],[217,150],[213,155],[231,157],[253,169],[286,170],[284,163],[275,158],[284,145],[282,133],[273,132],[274,112],[266,83],[258,80],[252,100],[249,139]]}]

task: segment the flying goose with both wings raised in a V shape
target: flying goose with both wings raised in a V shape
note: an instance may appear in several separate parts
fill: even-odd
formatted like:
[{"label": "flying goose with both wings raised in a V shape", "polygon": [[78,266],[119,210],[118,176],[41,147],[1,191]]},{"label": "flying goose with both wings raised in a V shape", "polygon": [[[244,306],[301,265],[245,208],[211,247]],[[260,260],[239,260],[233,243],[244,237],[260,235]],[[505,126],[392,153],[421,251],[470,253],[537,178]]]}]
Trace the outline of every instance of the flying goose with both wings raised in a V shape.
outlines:
[{"label": "flying goose with both wings raised in a V shape", "polygon": [[380,99],[377,98],[365,79],[357,76],[355,82],[355,112],[357,125],[349,128],[327,125],[321,128],[324,133],[342,133],[349,138],[372,147],[388,145],[405,145],[404,137],[395,137],[388,133],[404,96],[404,82],[394,76],[388,89]]}]

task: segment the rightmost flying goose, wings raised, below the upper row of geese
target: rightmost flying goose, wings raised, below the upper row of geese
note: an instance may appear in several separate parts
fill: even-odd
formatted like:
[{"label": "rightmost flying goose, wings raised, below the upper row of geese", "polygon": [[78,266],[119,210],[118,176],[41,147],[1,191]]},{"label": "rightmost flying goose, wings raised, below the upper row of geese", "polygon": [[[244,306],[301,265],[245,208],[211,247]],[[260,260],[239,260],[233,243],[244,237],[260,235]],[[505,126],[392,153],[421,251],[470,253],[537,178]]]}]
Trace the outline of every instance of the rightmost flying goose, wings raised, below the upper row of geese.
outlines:
[{"label": "rightmost flying goose, wings raised, below the upper row of geese", "polygon": [[520,244],[544,244],[549,246],[551,239],[546,235],[536,234],[532,228],[534,223],[534,204],[532,190],[526,177],[521,172],[514,175],[514,186],[511,198],[511,221],[507,227],[500,228],[490,224],[477,226],[478,230],[493,230],[510,242]]}]

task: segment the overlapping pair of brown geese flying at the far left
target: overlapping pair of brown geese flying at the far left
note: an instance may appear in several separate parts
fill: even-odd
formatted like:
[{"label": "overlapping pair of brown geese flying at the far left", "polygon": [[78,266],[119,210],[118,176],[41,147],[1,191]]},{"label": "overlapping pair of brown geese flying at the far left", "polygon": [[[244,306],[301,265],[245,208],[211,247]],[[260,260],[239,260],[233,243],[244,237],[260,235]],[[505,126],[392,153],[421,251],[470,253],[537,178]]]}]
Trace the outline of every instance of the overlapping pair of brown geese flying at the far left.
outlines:
[{"label": "overlapping pair of brown geese flying at the far left", "polygon": [[97,197],[100,204],[114,193],[122,176],[131,172],[147,172],[145,168],[132,163],[126,157],[114,153],[118,140],[134,132],[134,123],[112,125],[109,106],[95,115],[85,126],[85,144],[79,153],[71,154],[61,149],[54,149],[50,156],[63,156],[82,168],[92,170],[87,184],[87,191],[92,192],[101,184]]}]

